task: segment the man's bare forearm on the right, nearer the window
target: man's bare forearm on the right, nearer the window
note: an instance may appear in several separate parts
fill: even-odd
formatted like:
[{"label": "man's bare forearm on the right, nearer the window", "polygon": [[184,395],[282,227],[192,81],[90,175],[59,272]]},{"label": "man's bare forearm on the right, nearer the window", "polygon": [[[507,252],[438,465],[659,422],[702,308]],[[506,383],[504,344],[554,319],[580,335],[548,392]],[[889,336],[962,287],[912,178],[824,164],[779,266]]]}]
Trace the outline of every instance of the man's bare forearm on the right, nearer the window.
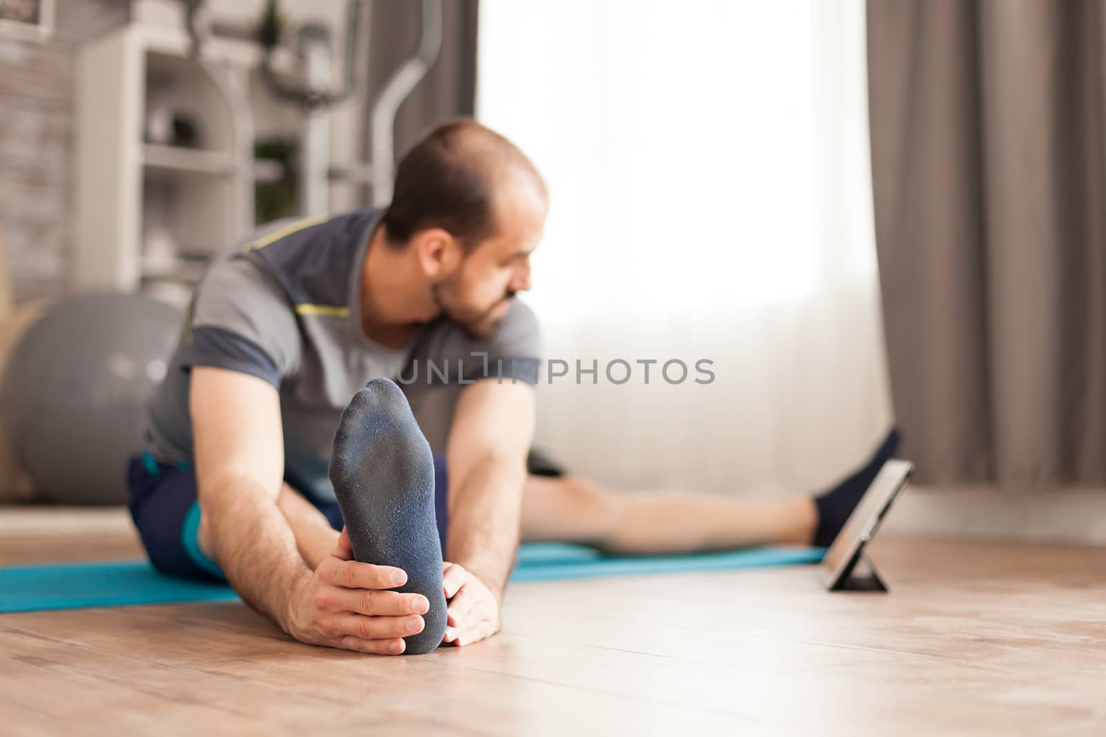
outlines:
[{"label": "man's bare forearm on the right, nearer the window", "polygon": [[[461,392],[449,433],[446,558],[479,579],[494,600],[494,621],[483,636],[499,628],[499,604],[519,546],[534,414],[533,387],[482,379]],[[467,627],[462,620],[476,609],[474,598],[459,592],[450,602],[450,620],[457,623],[447,629],[447,641],[472,633],[476,623]],[[458,639],[466,644],[465,636]]]}]

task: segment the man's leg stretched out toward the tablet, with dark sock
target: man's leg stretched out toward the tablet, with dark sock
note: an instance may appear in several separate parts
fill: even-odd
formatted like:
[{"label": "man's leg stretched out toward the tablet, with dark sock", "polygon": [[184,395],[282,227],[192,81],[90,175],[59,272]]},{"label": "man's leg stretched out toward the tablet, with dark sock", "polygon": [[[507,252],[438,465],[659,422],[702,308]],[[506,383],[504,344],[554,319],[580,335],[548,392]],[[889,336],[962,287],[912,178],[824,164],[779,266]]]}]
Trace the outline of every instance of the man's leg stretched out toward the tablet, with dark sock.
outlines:
[{"label": "man's leg stretched out toward the tablet, with dark sock", "polygon": [[625,493],[576,476],[530,476],[522,539],[594,545],[623,555],[724,550],[754,545],[825,546],[898,448],[891,430],[868,462],[827,492],[781,501],[705,494]]}]

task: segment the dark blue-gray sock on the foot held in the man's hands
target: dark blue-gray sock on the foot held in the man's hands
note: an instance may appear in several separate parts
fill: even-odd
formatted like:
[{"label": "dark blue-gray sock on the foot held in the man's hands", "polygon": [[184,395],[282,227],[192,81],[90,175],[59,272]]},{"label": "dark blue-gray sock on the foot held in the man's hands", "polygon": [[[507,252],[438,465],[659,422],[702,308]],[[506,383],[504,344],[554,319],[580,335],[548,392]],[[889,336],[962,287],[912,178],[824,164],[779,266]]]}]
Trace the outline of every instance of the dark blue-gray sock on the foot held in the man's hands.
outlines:
[{"label": "dark blue-gray sock on the foot held in the man's hands", "polygon": [[428,653],[446,633],[441,543],[434,515],[434,456],[407,398],[388,379],[354,394],[334,434],[331,482],[354,558],[407,571],[396,589],[430,602],[405,653]]}]

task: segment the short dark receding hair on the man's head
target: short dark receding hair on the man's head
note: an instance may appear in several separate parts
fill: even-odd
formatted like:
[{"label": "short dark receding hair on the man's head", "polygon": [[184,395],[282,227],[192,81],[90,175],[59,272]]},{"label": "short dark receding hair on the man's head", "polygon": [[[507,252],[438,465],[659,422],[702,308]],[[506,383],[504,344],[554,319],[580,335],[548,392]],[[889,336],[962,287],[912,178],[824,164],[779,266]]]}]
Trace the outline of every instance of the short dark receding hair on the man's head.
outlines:
[{"label": "short dark receding hair on the man's head", "polygon": [[400,160],[392,203],[384,213],[389,242],[406,244],[419,231],[441,228],[469,250],[495,235],[493,185],[505,166],[541,175],[511,141],[476,120],[444,123]]}]

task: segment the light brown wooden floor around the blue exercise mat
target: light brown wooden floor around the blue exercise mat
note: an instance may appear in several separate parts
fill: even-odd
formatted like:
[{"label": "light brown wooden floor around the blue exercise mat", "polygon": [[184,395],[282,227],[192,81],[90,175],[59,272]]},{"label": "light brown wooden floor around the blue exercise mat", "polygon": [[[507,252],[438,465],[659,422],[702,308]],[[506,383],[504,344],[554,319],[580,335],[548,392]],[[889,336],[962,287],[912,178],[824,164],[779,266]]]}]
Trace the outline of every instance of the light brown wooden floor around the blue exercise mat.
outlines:
[{"label": "light brown wooden floor around the blue exercise mat", "polygon": [[[0,565],[138,554],[122,514],[0,512]],[[241,603],[2,614],[0,733],[1106,734],[1106,549],[873,557],[890,594],[811,567],[517,585],[501,634],[421,656]]]}]

